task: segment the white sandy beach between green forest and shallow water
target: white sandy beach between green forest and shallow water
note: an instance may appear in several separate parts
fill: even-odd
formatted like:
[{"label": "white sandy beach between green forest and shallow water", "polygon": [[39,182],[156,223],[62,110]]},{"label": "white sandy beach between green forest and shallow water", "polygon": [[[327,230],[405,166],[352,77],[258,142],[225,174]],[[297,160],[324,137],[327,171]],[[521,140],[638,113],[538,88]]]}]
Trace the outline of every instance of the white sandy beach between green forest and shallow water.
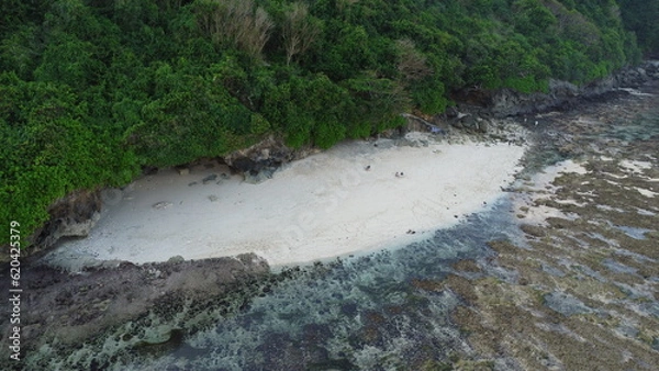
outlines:
[{"label": "white sandy beach between green forest and shallow water", "polygon": [[107,193],[90,236],[45,260],[76,269],[100,260],[253,251],[277,267],[404,246],[495,202],[525,150],[447,145],[418,133],[409,138],[425,146],[344,143],[288,164],[260,184],[217,164],[146,176]]}]

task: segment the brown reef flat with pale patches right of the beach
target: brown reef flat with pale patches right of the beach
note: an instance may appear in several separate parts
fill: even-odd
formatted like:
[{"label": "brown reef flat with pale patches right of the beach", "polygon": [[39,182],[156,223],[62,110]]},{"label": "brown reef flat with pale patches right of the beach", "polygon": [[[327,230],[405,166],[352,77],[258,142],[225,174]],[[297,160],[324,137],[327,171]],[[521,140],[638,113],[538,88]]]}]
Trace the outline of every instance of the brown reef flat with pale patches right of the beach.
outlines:
[{"label": "brown reef flat with pale patches right of the beach", "polygon": [[[442,283],[465,300],[451,317],[481,362],[507,370],[659,364],[659,83],[635,93],[641,97],[536,116],[538,155],[510,190],[525,238],[490,241],[495,256],[479,262],[505,278]],[[530,176],[558,159],[569,161]]]}]

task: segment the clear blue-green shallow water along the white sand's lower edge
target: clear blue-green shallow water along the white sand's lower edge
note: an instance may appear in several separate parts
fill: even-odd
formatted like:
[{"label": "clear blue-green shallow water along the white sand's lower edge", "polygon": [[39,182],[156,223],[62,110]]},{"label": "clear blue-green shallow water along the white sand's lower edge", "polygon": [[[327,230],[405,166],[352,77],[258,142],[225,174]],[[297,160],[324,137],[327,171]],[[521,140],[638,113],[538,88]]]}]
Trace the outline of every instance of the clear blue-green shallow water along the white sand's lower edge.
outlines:
[{"label": "clear blue-green shallow water along the white sand's lower edge", "polygon": [[411,370],[469,355],[450,319],[461,299],[440,280],[458,260],[491,257],[487,241],[517,238],[510,207],[503,198],[426,241],[311,268],[177,349],[119,369]]}]

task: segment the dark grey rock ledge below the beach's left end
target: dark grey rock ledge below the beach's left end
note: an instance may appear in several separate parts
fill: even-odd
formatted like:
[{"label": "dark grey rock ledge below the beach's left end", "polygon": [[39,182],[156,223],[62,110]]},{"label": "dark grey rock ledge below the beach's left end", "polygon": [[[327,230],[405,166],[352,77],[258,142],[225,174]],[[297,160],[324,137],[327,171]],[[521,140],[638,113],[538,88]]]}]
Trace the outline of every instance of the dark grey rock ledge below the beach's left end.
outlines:
[{"label": "dark grey rock ledge below the beach's left end", "polygon": [[[71,356],[94,359],[94,364],[81,364],[81,369],[104,369],[108,355],[91,350],[103,348],[97,347],[97,341],[129,352],[164,350],[176,346],[188,331],[208,325],[194,317],[200,308],[213,303],[223,311],[219,316],[233,313],[269,290],[277,279],[269,273],[268,263],[254,254],[198,261],[172,258],[142,266],[107,262],[75,277],[52,267],[32,266],[21,276],[22,306],[27,308],[21,315],[22,353],[38,349],[57,355],[71,345],[87,344]],[[0,282],[4,292],[9,282],[7,277]],[[3,301],[0,310],[10,313],[9,304]],[[9,321],[3,322],[3,334],[9,334]],[[109,345],[109,338],[115,344]],[[5,349],[9,346],[7,337],[0,342]],[[11,362],[3,358],[0,369],[12,370],[16,363]]]}]

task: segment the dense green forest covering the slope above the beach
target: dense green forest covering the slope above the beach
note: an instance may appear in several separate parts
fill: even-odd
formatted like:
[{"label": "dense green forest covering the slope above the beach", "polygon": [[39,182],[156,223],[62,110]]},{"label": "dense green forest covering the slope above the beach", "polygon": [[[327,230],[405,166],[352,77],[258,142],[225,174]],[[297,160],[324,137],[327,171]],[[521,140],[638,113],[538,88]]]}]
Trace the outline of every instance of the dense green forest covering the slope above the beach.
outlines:
[{"label": "dense green forest covering the slope above the beach", "polygon": [[461,87],[583,83],[636,61],[635,40],[615,0],[2,1],[0,220],[31,233],[75,189],[270,133],[365,137]]}]

